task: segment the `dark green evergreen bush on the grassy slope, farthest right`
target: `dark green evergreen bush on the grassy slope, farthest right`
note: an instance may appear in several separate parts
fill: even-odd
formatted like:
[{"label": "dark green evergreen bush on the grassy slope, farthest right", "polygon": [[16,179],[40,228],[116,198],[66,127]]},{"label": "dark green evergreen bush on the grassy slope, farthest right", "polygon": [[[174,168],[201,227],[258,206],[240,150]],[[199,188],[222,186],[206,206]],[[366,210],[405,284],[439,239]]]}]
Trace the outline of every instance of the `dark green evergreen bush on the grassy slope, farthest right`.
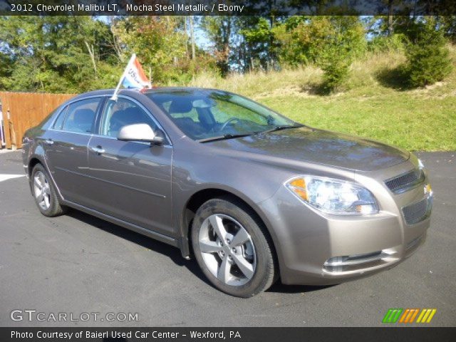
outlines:
[{"label": "dark green evergreen bush on the grassy slope, farthest right", "polygon": [[410,86],[428,86],[450,74],[452,61],[446,43],[433,21],[415,23],[409,28],[405,73]]}]

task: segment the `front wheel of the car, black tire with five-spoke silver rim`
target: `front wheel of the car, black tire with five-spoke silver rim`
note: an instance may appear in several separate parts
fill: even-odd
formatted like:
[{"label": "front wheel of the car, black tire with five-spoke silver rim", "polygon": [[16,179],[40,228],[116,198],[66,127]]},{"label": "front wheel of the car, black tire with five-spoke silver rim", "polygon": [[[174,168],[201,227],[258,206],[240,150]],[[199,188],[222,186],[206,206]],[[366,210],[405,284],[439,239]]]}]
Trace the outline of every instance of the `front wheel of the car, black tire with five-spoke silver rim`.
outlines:
[{"label": "front wheel of the car, black tire with five-spoke silver rim", "polygon": [[276,281],[278,267],[269,234],[243,202],[209,199],[197,210],[191,234],[199,267],[226,294],[252,297]]}]

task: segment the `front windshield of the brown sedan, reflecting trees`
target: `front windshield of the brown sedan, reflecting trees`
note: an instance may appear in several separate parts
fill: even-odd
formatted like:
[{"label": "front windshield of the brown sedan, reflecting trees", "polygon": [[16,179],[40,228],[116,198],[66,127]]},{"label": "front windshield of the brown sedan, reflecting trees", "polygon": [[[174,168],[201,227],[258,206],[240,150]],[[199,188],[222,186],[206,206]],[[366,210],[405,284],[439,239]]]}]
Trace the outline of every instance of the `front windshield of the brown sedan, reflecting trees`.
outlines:
[{"label": "front windshield of the brown sedan, reflecting trees", "polygon": [[167,90],[145,95],[194,140],[232,138],[297,125],[252,100],[221,90]]}]

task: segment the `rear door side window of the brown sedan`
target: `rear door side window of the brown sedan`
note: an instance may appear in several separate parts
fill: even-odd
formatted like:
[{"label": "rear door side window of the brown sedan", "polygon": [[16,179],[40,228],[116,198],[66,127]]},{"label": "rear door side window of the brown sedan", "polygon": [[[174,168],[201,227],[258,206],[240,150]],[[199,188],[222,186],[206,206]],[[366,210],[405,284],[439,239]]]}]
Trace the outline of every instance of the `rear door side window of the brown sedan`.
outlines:
[{"label": "rear door side window of the brown sedan", "polygon": [[88,98],[68,105],[63,130],[91,133],[100,98]]}]

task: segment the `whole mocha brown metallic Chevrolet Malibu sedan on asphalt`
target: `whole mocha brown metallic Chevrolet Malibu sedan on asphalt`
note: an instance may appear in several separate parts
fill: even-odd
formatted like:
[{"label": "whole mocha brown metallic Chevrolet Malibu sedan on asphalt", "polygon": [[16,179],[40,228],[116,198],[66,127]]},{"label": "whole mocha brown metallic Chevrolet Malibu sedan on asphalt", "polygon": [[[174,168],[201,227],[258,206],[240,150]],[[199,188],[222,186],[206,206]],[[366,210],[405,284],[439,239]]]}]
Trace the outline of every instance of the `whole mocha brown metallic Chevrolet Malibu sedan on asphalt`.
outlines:
[{"label": "whole mocha brown metallic Chevrolet Malibu sedan on asphalt", "polygon": [[234,93],[98,90],[24,135],[31,193],[178,247],[227,294],[390,269],[423,244],[432,190],[410,152],[295,123]]}]

